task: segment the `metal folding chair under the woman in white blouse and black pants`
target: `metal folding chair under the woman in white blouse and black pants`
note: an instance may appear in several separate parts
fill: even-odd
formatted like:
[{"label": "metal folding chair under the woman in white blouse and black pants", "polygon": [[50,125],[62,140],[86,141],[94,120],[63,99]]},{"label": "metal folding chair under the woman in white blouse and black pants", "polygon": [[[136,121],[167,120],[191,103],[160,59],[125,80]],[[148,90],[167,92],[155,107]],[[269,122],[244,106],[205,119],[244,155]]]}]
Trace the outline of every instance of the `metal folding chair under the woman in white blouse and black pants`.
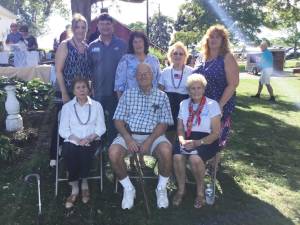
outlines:
[{"label": "metal folding chair under the woman in white blouse and black pants", "polygon": [[[58,113],[58,124],[60,122],[60,112]],[[59,127],[59,126],[58,126]],[[67,176],[64,176],[64,177],[60,177],[60,161],[62,161],[63,157],[61,157],[60,153],[60,145],[59,145],[59,132],[57,130],[57,151],[56,151],[56,167],[55,167],[55,197],[57,197],[57,194],[58,194],[58,184],[59,182],[62,182],[62,181],[68,181],[68,178]],[[96,152],[94,154],[95,158],[98,159],[98,163],[96,165],[96,168],[91,168],[91,171],[90,173],[93,173],[93,171],[96,171],[99,169],[99,175],[96,175],[96,176],[90,176],[90,177],[87,177],[88,180],[99,180],[99,187],[100,187],[100,191],[102,192],[103,190],[103,153],[102,153],[102,149],[101,149],[101,145],[97,147],[96,149]],[[95,160],[93,160],[95,161]],[[93,162],[93,164],[95,164]],[[62,166],[63,167],[63,166]]]}]

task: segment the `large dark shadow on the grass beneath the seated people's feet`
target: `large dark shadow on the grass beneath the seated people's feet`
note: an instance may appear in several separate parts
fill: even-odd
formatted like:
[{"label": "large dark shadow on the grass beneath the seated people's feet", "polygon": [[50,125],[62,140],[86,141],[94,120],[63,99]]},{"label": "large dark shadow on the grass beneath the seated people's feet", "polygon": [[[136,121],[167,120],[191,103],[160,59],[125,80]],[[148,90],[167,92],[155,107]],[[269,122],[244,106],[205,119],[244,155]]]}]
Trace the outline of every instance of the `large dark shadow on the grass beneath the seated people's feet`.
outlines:
[{"label": "large dark shadow on the grass beneath the seated people's feet", "polygon": [[[221,170],[218,174],[218,198],[214,206],[205,206],[200,210],[193,208],[195,186],[187,186],[187,195],[179,208],[170,206],[168,209],[156,208],[155,187],[156,181],[146,181],[146,190],[152,211],[151,219],[147,219],[143,196],[138,184],[135,206],[130,211],[121,210],[122,192],[113,193],[114,184],[105,180],[104,191],[100,193],[96,182],[91,182],[91,201],[81,203],[80,198],[72,210],[64,208],[64,202],[69,194],[66,183],[60,185],[59,195],[54,198],[53,173],[45,166],[47,160],[38,156],[40,161],[32,166],[38,170],[42,178],[42,210],[44,225],[293,225],[274,206],[267,204],[256,197],[245,193],[232,174]],[[37,161],[35,161],[37,163]],[[41,166],[41,167],[40,167]],[[32,171],[35,172],[35,171]],[[36,187],[26,186],[18,180],[15,185],[16,199],[8,205],[14,208],[3,208],[0,215],[2,224],[36,224],[37,193]],[[173,193],[171,194],[173,195]],[[3,197],[3,196],[2,196]],[[11,198],[11,197],[10,197]],[[16,198],[16,197],[15,197]],[[172,196],[169,197],[170,201]],[[0,200],[2,206],[6,205],[5,198]]]}]

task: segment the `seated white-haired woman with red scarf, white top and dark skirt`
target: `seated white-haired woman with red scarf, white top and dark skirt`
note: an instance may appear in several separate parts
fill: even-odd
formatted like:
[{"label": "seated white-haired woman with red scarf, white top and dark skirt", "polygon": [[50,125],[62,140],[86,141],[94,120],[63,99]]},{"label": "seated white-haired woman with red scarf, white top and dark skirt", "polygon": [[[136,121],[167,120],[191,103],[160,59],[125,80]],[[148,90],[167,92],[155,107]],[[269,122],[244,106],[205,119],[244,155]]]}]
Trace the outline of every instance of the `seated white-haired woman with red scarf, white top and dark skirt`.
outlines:
[{"label": "seated white-haired woman with red scarf, white top and dark skirt", "polygon": [[196,180],[197,193],[195,208],[204,205],[205,162],[219,150],[221,111],[219,104],[204,96],[206,79],[203,75],[192,74],[187,79],[190,98],[180,103],[177,122],[178,141],[173,149],[173,165],[178,190],[173,205],[179,206],[185,194],[186,160]]}]

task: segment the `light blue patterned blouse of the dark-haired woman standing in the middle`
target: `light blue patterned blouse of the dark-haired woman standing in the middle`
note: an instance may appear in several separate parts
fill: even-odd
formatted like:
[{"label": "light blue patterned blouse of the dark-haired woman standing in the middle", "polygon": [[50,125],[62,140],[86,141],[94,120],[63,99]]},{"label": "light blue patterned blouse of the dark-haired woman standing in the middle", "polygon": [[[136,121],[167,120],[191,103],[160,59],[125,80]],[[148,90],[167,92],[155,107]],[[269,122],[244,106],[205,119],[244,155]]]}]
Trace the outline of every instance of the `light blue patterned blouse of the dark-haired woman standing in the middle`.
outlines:
[{"label": "light blue patterned blouse of the dark-haired woman standing in the middle", "polygon": [[136,69],[138,64],[147,63],[150,65],[153,73],[153,87],[157,87],[158,79],[160,77],[160,64],[156,56],[151,54],[146,55],[144,62],[140,62],[134,54],[124,55],[117,67],[115,79],[115,91],[124,92],[127,89],[137,87],[135,78]]}]

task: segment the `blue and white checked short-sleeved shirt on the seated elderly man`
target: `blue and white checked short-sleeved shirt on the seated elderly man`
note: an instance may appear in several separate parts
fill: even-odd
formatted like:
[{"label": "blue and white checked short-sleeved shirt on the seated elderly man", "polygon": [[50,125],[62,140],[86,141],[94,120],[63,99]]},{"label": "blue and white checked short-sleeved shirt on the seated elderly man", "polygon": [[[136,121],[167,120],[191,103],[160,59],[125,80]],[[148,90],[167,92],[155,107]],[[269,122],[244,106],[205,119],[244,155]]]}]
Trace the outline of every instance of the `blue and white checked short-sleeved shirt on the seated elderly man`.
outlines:
[{"label": "blue and white checked short-sleeved shirt on the seated elderly man", "polygon": [[157,88],[152,88],[149,94],[139,87],[126,90],[113,119],[124,121],[132,132],[152,133],[159,123],[173,124],[168,96]]}]

